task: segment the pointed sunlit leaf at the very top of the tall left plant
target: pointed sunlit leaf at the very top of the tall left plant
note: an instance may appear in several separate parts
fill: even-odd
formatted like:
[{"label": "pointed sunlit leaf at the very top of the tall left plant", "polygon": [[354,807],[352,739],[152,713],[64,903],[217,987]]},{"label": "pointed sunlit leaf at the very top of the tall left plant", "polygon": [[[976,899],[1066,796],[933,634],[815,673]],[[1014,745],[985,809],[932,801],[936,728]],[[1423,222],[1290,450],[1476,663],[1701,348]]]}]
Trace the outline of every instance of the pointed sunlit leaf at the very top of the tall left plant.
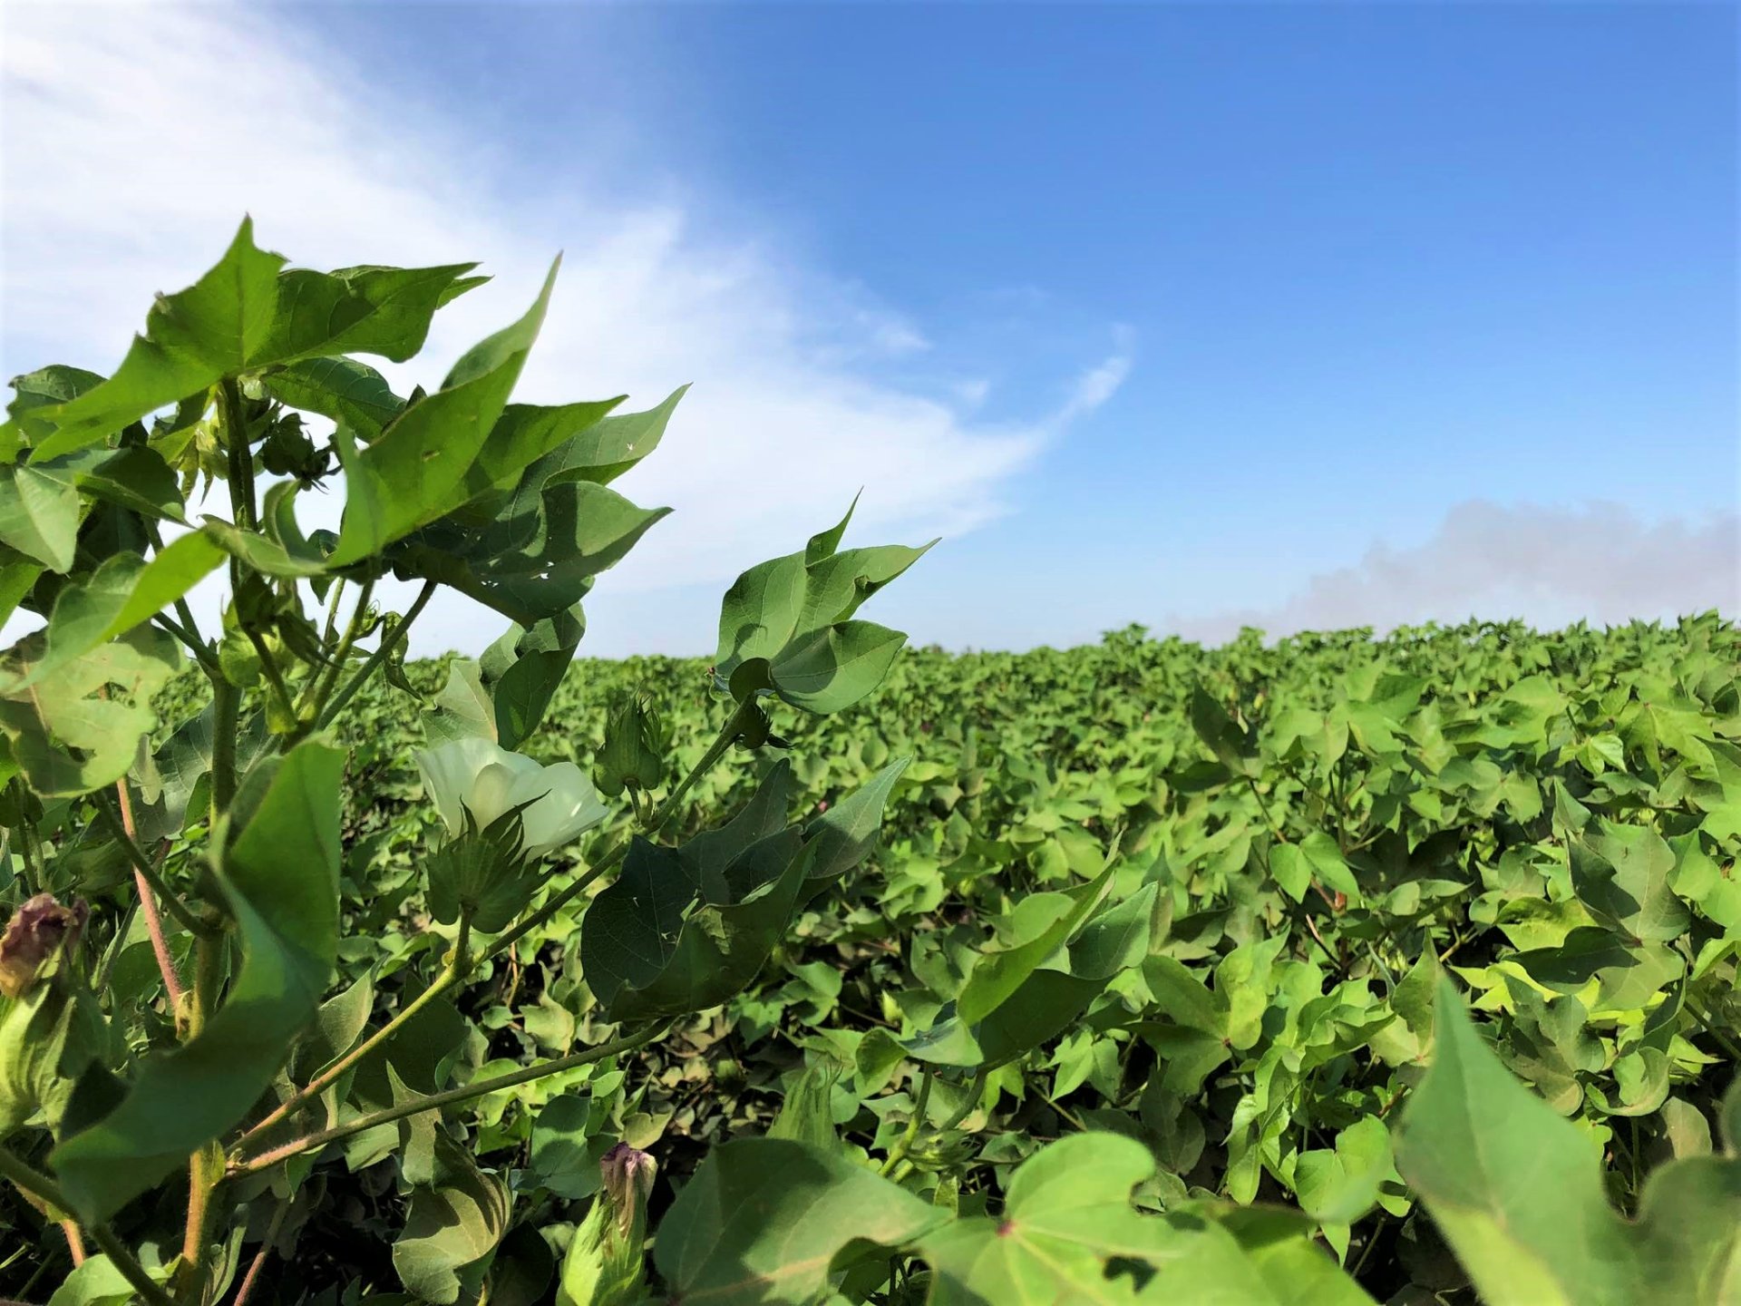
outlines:
[{"label": "pointed sunlit leaf at the very top of the tall left plant", "polygon": [[31,414],[54,423],[31,461],[101,444],[122,427],[242,371],[266,341],[279,303],[284,258],[254,247],[242,219],[218,265],[179,294],[158,298],[145,334],[115,374],[77,399]]}]

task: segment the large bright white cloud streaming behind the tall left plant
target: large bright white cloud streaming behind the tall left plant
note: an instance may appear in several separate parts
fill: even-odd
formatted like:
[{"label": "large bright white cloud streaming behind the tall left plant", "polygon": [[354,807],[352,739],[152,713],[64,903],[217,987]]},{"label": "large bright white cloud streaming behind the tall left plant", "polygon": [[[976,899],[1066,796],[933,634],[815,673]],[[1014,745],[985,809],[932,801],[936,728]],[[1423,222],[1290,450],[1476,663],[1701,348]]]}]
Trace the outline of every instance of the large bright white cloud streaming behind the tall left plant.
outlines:
[{"label": "large bright white cloud streaming behind the tall left plant", "polygon": [[[519,397],[629,392],[634,409],[695,383],[665,448],[620,482],[677,512],[602,594],[729,580],[801,543],[860,486],[858,538],[970,531],[1128,371],[1119,353],[1050,416],[973,421],[971,402],[877,380],[874,360],[928,348],[923,327],[844,279],[790,266],[778,233],[712,232],[705,199],[660,174],[529,172],[512,141],[474,136],[449,106],[371,89],[310,26],[169,3],[101,16],[14,3],[3,24],[5,374],[113,367],[150,296],[204,270],[244,211],[263,246],[301,265],[484,259],[496,280],[437,319],[406,383],[434,383],[515,317],[564,247]],[[695,613],[698,636],[710,620]],[[493,634],[453,597],[416,644],[475,650]]]}]

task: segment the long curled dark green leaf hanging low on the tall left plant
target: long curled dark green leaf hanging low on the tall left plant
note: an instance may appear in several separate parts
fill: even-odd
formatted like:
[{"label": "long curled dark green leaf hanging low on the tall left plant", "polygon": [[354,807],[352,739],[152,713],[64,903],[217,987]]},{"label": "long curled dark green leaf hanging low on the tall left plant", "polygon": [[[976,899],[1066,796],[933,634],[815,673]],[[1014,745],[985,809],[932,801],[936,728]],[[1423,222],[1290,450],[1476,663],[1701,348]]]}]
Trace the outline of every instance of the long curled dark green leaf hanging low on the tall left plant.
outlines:
[{"label": "long curled dark green leaf hanging low on the tall left plant", "polygon": [[108,1219],[240,1121],[315,1015],[338,949],[343,766],[336,749],[299,744],[214,858],[240,966],[197,1038],[143,1060],[125,1099],[50,1155],[82,1219]]}]

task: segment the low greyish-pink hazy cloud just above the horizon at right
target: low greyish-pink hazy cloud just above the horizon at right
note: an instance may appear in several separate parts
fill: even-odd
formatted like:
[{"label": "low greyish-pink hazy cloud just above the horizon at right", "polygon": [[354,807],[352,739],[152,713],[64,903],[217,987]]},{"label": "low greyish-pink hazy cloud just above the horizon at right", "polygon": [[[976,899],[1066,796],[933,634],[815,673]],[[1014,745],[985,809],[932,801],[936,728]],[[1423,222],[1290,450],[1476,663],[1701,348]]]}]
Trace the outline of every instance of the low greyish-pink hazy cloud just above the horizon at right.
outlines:
[{"label": "low greyish-pink hazy cloud just above the horizon at right", "polygon": [[1375,543],[1360,562],[1313,576],[1280,606],[1173,616],[1161,627],[1219,643],[1241,625],[1271,636],[1361,625],[1382,632],[1475,615],[1555,629],[1710,608],[1741,615],[1741,514],[1645,522],[1619,503],[1475,500],[1445,514],[1424,543]]}]

